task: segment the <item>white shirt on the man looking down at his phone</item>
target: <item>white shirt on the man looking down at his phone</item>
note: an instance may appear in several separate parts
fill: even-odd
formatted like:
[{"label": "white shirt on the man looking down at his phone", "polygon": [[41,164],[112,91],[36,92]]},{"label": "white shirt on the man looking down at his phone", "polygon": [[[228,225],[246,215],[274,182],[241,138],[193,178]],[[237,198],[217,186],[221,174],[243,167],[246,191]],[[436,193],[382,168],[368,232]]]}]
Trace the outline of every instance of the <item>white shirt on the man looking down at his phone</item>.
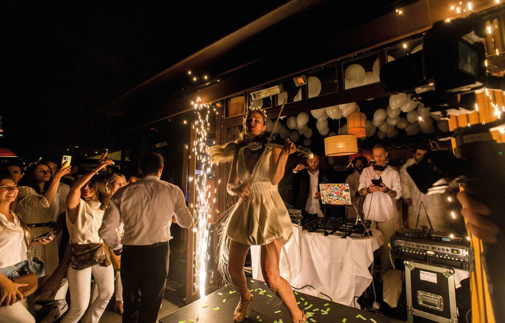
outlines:
[{"label": "white shirt on the man looking down at his phone", "polygon": [[[365,219],[377,222],[394,219],[396,216],[395,201],[401,197],[400,176],[396,170],[388,166],[380,177],[382,177],[384,185],[396,192],[396,197],[393,199],[387,193],[380,190],[368,193],[365,196],[365,202],[363,203]],[[358,190],[370,186],[372,179],[379,179],[379,176],[377,176],[373,166],[370,166],[365,168],[361,173]]]}]

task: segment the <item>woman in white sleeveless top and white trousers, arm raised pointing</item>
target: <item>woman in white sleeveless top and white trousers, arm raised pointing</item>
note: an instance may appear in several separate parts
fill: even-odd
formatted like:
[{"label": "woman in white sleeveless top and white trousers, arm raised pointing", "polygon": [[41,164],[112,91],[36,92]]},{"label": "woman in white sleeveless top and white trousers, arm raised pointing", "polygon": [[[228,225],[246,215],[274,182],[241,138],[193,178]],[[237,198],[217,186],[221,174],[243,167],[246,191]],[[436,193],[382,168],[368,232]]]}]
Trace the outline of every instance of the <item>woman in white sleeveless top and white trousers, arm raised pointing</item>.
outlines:
[{"label": "woman in white sleeveless top and white trousers, arm raised pointing", "polygon": [[[105,159],[106,155],[107,153],[98,161],[98,166],[77,179],[70,188],[67,196],[67,227],[72,244],[82,246],[102,242],[98,236],[98,229],[102,225],[102,218],[109,204],[109,194],[104,182],[94,175],[98,174],[100,169],[112,164],[112,160]],[[98,297],[89,305],[86,312],[91,292],[91,275],[98,287]],[[98,322],[114,293],[112,266],[103,267],[98,264],[82,270],[75,270],[69,266],[67,279],[70,289],[70,310],[62,323],[77,322],[81,317],[83,323]]]}]

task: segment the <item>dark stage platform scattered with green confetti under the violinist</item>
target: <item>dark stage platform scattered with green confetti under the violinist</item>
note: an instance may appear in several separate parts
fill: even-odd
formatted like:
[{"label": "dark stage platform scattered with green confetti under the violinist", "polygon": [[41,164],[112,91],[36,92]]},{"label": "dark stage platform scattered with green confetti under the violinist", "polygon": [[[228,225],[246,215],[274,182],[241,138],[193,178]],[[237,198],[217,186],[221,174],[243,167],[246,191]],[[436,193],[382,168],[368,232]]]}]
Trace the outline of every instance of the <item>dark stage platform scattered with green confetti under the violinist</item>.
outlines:
[{"label": "dark stage platform scattered with green confetti under the violinist", "polygon": [[[260,280],[247,279],[247,286],[254,294],[252,311],[247,309],[247,323],[290,323],[289,312],[279,298]],[[400,323],[401,321],[380,316],[365,310],[331,302],[326,299],[295,293],[298,307],[307,313],[308,323]],[[160,319],[163,323],[231,323],[233,311],[240,296],[231,287],[186,305]]]}]

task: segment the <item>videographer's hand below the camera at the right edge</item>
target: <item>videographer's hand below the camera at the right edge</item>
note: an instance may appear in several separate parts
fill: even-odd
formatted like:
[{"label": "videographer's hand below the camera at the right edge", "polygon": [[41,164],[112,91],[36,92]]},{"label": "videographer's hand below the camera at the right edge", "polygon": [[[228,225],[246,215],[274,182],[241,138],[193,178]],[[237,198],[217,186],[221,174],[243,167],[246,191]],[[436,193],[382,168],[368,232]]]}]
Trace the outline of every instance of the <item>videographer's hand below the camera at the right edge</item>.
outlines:
[{"label": "videographer's hand below the camera at the right edge", "polygon": [[461,214],[468,221],[468,231],[484,242],[498,242],[500,228],[486,218],[487,215],[491,214],[491,209],[487,205],[472,198],[465,191],[460,191],[458,193],[458,200],[463,206]]}]

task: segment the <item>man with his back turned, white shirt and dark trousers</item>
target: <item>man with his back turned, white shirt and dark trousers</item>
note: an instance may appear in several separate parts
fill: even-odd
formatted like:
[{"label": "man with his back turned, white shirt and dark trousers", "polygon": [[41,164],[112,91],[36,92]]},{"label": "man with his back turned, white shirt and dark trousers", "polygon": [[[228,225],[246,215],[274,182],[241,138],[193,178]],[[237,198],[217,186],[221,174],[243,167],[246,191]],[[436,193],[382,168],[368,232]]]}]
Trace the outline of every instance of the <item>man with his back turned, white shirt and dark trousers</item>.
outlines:
[{"label": "man with his back turned, white shirt and dark trousers", "polygon": [[[179,187],[160,180],[163,157],[142,156],[143,179],[121,187],[105,211],[100,238],[113,250],[121,250],[123,322],[156,322],[168,275],[168,240],[172,216],[183,228],[193,224]],[[120,239],[116,229],[124,222]],[[119,251],[115,251],[119,253]]]}]

